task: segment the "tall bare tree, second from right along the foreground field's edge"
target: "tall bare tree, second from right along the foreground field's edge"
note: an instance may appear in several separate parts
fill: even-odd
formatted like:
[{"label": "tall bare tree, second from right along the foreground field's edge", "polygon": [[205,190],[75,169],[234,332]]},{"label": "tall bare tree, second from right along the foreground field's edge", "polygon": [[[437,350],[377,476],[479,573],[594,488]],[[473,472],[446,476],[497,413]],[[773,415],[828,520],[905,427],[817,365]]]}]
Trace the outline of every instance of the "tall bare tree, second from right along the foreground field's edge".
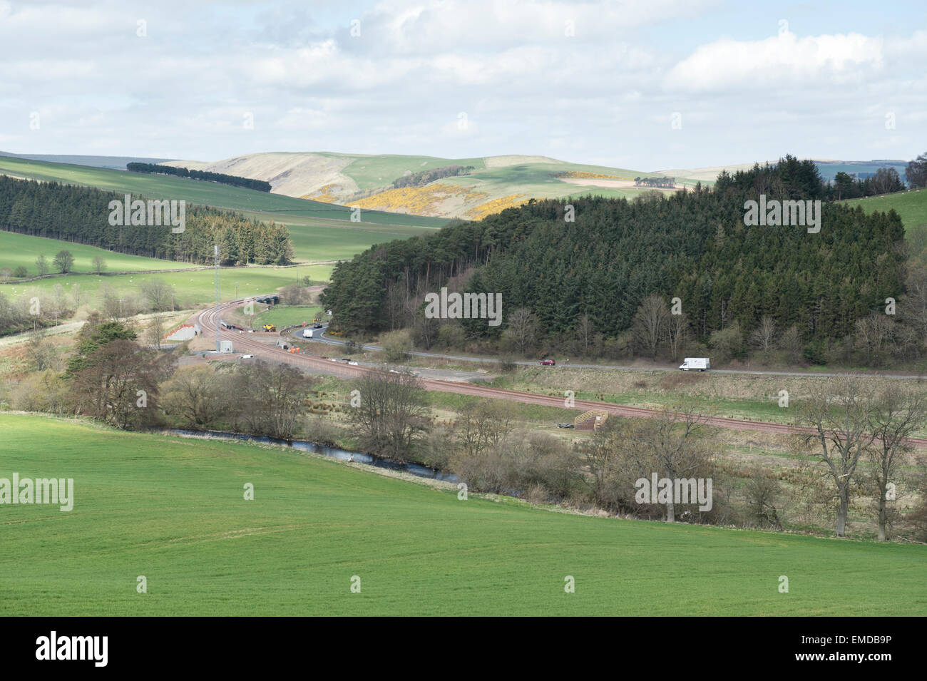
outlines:
[{"label": "tall bare tree, second from right along the foreground field's edge", "polygon": [[841,376],[823,380],[812,388],[798,411],[798,423],[812,430],[804,439],[819,450],[836,489],[837,536],[846,536],[846,515],[857,482],[857,466],[875,437],[869,432],[873,410],[872,391],[865,380]]}]

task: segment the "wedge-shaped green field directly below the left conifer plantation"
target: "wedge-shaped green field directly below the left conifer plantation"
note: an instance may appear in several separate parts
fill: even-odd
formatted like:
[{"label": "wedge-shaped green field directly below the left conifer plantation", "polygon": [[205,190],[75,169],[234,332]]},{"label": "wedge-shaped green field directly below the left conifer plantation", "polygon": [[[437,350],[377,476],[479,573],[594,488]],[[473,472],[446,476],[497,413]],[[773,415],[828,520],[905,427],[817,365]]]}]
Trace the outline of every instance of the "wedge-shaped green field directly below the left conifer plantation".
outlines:
[{"label": "wedge-shaped green field directly below the left conifer plantation", "polygon": [[44,253],[49,271],[55,271],[52,259],[60,250],[70,251],[74,256],[73,270],[79,272],[93,271],[93,259],[96,256],[106,260],[107,271],[182,270],[190,267],[190,264],[185,262],[127,256],[95,246],[71,244],[68,241],[46,239],[42,236],[0,232],[0,268],[16,270],[21,265],[29,271],[30,276],[36,276],[39,272],[35,267],[35,259]]}]

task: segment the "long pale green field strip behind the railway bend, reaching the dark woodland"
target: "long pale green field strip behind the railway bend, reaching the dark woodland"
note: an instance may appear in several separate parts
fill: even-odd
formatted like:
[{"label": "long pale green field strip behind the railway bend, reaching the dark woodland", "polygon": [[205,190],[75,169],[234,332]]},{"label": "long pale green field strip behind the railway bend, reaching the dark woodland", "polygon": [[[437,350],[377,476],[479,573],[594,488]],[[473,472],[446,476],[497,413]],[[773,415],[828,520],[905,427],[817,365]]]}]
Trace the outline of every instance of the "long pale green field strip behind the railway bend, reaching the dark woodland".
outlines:
[{"label": "long pale green field strip behind the railway bend, reaching the dark woodland", "polygon": [[[331,277],[331,265],[303,266],[298,270],[299,277],[309,276],[313,281],[328,281]],[[286,284],[296,281],[296,268],[249,267],[220,272],[219,295],[222,300],[238,297],[273,293]],[[210,303],[215,300],[215,273],[212,270],[162,272],[158,274],[117,274],[114,276],[96,276],[94,274],[74,274],[65,277],[41,279],[27,284],[7,284],[0,291],[7,296],[32,295],[33,292],[51,293],[57,284],[69,292],[71,287],[79,284],[82,294],[96,296],[100,288],[108,285],[114,292],[138,294],[143,282],[158,279],[171,284],[176,291],[178,306]],[[238,284],[237,289],[235,283]]]}]

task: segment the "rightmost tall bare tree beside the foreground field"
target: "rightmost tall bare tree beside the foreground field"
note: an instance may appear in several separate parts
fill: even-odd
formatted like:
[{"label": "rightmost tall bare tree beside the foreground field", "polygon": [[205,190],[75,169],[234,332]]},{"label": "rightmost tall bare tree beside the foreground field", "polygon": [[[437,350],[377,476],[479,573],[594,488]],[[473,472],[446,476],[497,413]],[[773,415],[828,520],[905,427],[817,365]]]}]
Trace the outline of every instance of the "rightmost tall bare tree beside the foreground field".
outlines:
[{"label": "rightmost tall bare tree beside the foreground field", "polygon": [[870,476],[879,508],[879,539],[887,538],[888,489],[911,451],[910,437],[927,418],[927,398],[922,393],[890,381],[877,396],[870,416],[876,436],[869,449]]}]

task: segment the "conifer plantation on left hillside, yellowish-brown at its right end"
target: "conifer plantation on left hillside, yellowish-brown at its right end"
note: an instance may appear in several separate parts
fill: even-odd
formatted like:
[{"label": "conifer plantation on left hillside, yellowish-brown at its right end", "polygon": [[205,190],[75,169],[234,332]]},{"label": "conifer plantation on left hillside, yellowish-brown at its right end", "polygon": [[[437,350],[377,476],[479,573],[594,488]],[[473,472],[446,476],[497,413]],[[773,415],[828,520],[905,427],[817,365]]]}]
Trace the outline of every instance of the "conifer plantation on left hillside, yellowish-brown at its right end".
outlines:
[{"label": "conifer plantation on left hillside, yellowish-brown at its right end", "polygon": [[[144,200],[133,195],[135,199]],[[214,244],[219,245],[222,265],[283,265],[293,258],[283,225],[204,206],[187,209],[183,233],[172,233],[170,224],[112,225],[108,205],[113,200],[122,202],[125,195],[0,176],[0,229],[196,264],[213,261]]]}]

